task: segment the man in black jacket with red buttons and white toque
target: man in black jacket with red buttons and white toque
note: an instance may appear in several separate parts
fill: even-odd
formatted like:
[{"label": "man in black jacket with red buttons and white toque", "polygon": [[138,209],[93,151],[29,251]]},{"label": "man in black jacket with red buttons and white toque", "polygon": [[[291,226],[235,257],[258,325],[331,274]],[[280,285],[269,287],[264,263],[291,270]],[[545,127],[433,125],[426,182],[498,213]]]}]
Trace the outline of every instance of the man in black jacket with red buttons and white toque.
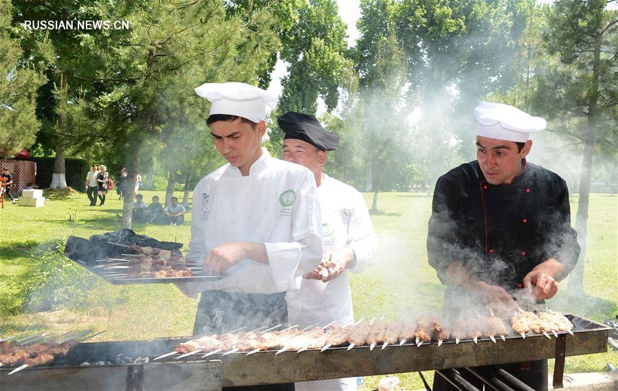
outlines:
[{"label": "man in black jacket with red buttons and white toque", "polygon": [[[580,254],[564,179],[526,160],[529,134],[545,120],[488,102],[474,116],[477,159],[438,179],[427,238],[429,263],[447,285],[445,309],[455,315],[470,300],[514,308],[518,289],[533,300],[552,298]],[[547,360],[503,368],[547,390]],[[434,390],[454,388],[436,375]]]}]

